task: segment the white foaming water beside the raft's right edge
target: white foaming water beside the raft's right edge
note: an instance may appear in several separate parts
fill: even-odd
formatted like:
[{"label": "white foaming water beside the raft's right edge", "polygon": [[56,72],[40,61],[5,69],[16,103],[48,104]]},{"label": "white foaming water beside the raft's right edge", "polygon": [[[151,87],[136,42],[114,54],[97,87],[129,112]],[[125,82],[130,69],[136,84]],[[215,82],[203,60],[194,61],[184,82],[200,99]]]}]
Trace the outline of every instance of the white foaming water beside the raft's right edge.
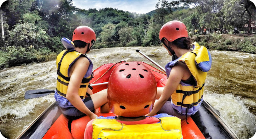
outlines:
[{"label": "white foaming water beside the raft's right edge", "polygon": [[221,117],[240,139],[247,139],[254,135],[256,119],[245,105],[247,99],[210,91],[205,91],[204,99],[220,112]]}]

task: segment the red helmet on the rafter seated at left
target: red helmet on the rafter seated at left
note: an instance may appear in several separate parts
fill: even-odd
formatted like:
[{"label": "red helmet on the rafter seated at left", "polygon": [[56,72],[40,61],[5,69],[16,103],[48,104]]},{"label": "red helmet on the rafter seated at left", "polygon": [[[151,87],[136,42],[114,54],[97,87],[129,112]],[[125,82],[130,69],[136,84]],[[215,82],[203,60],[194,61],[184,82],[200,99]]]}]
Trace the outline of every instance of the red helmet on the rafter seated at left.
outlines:
[{"label": "red helmet on the rafter seated at left", "polygon": [[79,26],[73,32],[72,41],[74,40],[80,40],[89,44],[92,40],[94,40],[94,42],[96,41],[96,35],[92,28],[88,26]]}]

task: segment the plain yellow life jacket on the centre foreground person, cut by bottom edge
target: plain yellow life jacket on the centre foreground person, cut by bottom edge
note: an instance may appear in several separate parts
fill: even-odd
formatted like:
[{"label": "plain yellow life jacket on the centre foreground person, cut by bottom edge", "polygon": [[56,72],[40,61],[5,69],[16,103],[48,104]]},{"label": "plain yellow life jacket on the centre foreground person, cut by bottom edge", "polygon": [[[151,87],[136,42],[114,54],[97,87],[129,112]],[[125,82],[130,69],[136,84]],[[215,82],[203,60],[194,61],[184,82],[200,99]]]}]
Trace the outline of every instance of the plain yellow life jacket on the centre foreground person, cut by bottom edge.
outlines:
[{"label": "plain yellow life jacket on the centre foreground person, cut by bottom edge", "polygon": [[[160,114],[159,123],[126,125],[115,117],[98,117],[92,123],[93,139],[183,139],[181,120]],[[158,116],[158,115],[156,115]],[[102,119],[104,118],[104,119]]]}]

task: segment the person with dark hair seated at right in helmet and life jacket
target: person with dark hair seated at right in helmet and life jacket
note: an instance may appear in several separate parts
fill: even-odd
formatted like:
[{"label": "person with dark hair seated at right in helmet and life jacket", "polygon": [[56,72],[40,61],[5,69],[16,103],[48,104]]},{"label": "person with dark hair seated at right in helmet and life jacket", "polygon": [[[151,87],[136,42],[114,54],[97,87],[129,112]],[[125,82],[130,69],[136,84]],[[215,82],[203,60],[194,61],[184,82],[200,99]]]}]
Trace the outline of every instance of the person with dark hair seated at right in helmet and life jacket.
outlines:
[{"label": "person with dark hair seated at right in helmet and life jacket", "polygon": [[164,24],[159,38],[172,61],[165,66],[166,86],[158,87],[158,101],[148,116],[167,113],[186,119],[198,111],[203,101],[204,81],[212,58],[210,52],[196,42],[192,44],[193,50],[190,49],[187,28],[180,21]]}]

